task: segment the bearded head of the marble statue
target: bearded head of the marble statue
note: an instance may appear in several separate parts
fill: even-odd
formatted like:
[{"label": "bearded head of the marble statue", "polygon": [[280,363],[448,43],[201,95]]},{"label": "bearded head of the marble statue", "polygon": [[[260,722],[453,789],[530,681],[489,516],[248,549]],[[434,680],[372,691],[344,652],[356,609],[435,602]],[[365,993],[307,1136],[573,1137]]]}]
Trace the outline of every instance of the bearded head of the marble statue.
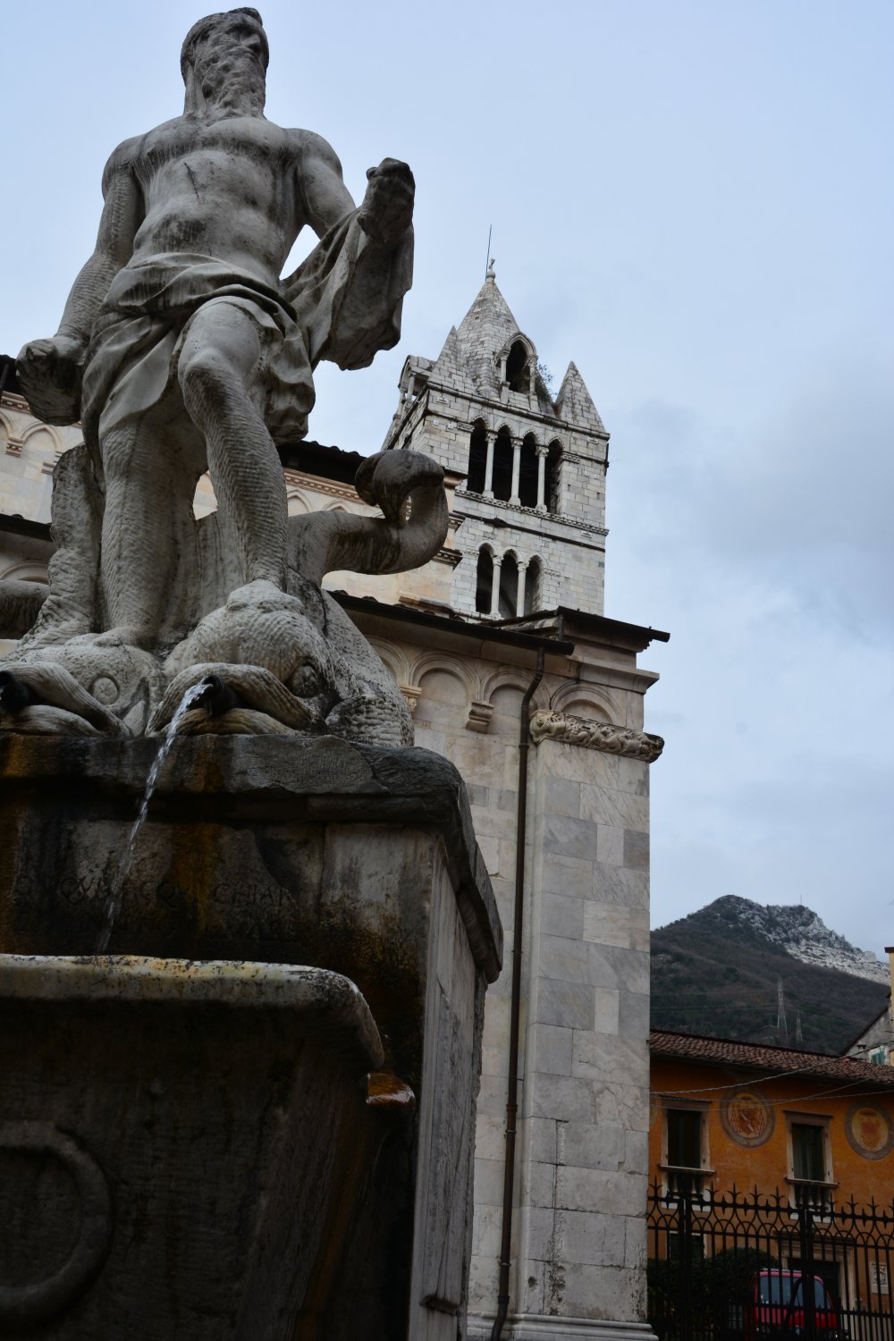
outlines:
[{"label": "bearded head of the marble statue", "polygon": [[186,110],[205,103],[232,111],[260,111],[269,47],[257,9],[209,13],[186,34],[180,68],[186,84]]}]

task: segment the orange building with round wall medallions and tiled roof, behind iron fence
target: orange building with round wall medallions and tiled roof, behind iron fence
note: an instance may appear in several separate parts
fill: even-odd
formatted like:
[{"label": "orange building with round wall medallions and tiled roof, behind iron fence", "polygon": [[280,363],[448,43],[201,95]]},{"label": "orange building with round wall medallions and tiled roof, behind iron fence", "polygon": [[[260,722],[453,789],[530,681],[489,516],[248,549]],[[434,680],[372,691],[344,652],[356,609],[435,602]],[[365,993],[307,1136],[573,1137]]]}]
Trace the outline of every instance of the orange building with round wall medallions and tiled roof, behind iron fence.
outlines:
[{"label": "orange building with round wall medallions and tiled roof, behind iron fence", "polygon": [[[654,1031],[649,1128],[650,1321],[736,1334],[756,1282],[815,1277],[836,1328],[890,1337],[894,1070],[726,1039]],[[663,1263],[663,1265],[662,1265]],[[745,1320],[739,1320],[748,1334]]]}]

